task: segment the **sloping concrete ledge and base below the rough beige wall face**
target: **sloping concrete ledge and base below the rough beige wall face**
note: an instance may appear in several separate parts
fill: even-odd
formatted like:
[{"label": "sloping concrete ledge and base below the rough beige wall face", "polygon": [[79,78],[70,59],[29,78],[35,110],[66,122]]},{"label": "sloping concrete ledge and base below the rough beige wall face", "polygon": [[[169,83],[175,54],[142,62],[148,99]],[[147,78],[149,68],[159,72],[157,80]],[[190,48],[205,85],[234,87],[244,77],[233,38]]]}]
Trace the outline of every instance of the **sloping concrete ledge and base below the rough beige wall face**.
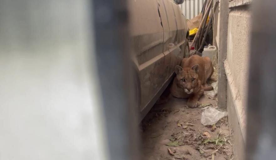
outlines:
[{"label": "sloping concrete ledge and base below the rough beige wall face", "polygon": [[235,87],[234,77],[227,60],[224,62],[225,73],[227,76],[227,112],[229,127],[234,139],[235,146],[234,159],[245,159],[245,140],[246,140],[246,115],[244,106],[241,104],[239,91]]}]

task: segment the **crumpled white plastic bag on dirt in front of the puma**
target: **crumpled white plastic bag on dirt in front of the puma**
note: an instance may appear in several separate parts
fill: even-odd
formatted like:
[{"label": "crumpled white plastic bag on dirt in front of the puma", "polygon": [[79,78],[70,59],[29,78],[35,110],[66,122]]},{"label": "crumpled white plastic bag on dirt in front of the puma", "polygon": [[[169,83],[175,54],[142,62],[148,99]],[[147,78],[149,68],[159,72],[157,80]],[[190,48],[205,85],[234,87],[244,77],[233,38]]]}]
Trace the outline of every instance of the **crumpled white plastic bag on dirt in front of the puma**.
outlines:
[{"label": "crumpled white plastic bag on dirt in front of the puma", "polygon": [[220,112],[215,108],[207,108],[201,113],[201,123],[204,126],[213,125],[224,116],[227,116],[227,112]]}]

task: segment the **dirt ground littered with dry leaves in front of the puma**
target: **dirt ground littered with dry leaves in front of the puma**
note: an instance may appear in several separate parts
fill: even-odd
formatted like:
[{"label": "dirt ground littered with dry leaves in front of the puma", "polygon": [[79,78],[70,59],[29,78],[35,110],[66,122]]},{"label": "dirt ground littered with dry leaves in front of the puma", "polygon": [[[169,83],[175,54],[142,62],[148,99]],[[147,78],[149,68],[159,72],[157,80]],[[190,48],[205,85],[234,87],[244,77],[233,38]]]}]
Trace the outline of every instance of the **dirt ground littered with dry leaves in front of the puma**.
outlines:
[{"label": "dirt ground littered with dry leaves in front of the puma", "polygon": [[[206,95],[202,107],[217,101]],[[186,99],[170,98],[155,105],[141,123],[143,160],[232,160],[232,138],[228,118],[215,126],[201,124],[202,108],[188,108]]]}]

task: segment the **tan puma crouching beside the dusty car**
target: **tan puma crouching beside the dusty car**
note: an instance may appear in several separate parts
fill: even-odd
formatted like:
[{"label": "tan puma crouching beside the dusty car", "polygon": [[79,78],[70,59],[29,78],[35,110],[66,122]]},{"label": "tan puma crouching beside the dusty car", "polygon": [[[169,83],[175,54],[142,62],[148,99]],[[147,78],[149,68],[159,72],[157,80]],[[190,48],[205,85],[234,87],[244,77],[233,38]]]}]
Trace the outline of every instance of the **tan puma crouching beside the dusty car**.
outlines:
[{"label": "tan puma crouching beside the dusty car", "polygon": [[206,82],[214,72],[212,61],[208,57],[193,55],[184,58],[181,66],[176,66],[175,72],[171,94],[177,98],[188,98],[190,108],[198,107],[204,88],[210,90],[210,87],[206,87]]}]

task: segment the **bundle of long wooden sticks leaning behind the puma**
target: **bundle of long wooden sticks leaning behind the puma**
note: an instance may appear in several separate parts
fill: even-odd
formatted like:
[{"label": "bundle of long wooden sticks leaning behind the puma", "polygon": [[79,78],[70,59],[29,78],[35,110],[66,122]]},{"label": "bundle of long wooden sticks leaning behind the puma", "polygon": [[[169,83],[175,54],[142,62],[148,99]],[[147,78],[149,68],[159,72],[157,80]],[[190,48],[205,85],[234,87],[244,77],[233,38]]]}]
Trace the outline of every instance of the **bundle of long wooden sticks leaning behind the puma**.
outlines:
[{"label": "bundle of long wooden sticks leaning behind the puma", "polygon": [[[217,5],[218,5],[218,1],[215,2],[215,5],[213,5],[213,0],[205,0],[204,1],[203,7],[201,10],[203,17],[200,22],[199,29],[196,32],[196,35],[194,36],[194,40],[190,46],[190,47],[194,47],[194,49],[197,51],[203,50],[204,45],[207,45],[206,37],[207,37],[208,31],[210,29],[210,26],[213,23],[214,11],[215,11]],[[210,15],[209,22],[206,26],[208,15]]]}]

